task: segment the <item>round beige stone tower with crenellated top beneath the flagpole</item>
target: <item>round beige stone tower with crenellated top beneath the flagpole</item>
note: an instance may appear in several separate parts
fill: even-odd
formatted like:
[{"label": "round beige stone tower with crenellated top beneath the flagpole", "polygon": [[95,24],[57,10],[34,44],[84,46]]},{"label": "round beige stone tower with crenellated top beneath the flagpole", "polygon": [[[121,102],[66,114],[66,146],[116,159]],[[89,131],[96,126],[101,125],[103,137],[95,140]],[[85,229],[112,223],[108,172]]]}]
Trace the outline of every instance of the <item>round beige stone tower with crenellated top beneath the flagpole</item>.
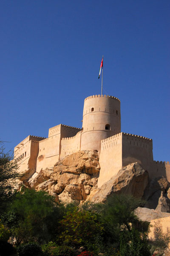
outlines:
[{"label": "round beige stone tower with crenellated top beneath the flagpole", "polygon": [[106,95],[93,95],[85,99],[81,150],[92,149],[100,153],[101,140],[120,131],[119,99]]}]

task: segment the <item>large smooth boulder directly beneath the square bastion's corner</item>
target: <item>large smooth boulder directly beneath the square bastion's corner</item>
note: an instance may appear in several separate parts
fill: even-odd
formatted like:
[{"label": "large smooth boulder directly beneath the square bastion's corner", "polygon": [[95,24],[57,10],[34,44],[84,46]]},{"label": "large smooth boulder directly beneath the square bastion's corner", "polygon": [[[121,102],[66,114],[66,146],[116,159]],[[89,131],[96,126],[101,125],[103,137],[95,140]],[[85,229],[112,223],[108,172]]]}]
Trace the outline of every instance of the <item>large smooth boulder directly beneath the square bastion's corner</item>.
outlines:
[{"label": "large smooth boulder directly beneath the square bastion's corner", "polygon": [[129,194],[142,198],[148,181],[147,171],[144,171],[139,163],[131,163],[119,170],[117,175],[113,176],[100,188],[94,189],[87,199],[93,202],[102,202],[113,193]]}]

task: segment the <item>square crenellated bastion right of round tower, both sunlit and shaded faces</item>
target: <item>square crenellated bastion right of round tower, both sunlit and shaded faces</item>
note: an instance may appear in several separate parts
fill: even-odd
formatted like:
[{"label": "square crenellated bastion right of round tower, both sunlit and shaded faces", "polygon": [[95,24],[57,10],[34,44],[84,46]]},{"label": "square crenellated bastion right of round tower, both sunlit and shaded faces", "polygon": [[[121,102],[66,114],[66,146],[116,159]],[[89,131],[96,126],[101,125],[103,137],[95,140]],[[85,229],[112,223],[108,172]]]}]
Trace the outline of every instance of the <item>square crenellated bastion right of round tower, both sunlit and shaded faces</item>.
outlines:
[{"label": "square crenellated bastion right of round tower, both sunlit and shaded faces", "polygon": [[110,180],[122,167],[136,162],[150,172],[150,163],[153,162],[151,139],[119,133],[102,140],[98,187]]}]

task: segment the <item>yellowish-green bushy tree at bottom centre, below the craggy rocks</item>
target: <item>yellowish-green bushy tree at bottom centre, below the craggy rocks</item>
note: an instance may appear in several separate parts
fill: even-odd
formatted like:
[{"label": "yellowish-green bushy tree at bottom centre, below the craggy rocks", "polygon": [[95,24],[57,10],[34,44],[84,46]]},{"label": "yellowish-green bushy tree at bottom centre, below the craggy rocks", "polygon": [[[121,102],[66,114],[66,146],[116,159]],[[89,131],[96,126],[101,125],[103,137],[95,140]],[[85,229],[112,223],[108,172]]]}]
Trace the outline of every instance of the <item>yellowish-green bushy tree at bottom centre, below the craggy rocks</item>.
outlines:
[{"label": "yellowish-green bushy tree at bottom centre, below the craggy rocks", "polygon": [[60,223],[62,233],[59,240],[62,244],[76,248],[83,246],[88,250],[98,247],[104,227],[97,213],[75,207],[74,211],[67,212]]}]

